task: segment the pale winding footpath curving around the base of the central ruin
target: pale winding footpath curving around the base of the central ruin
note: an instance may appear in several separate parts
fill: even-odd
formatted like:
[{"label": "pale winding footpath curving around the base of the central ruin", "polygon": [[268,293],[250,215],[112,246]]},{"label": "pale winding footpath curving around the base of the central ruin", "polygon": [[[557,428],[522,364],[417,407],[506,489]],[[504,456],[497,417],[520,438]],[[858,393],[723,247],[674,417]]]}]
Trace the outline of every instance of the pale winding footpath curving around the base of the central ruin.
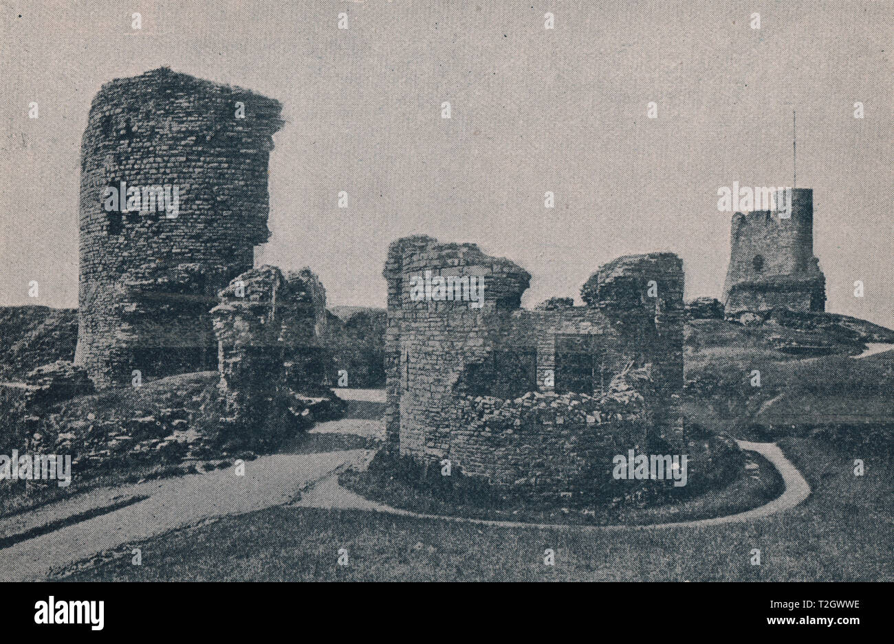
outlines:
[{"label": "pale winding footpath curving around the base of the central ruin", "polygon": [[[311,433],[342,433],[382,439],[381,421],[323,422]],[[311,454],[274,454],[245,464],[244,475],[227,467],[208,473],[94,489],[32,511],[0,517],[0,581],[46,579],[55,571],[107,551],[120,551],[168,531],[200,526],[218,517],[271,506],[357,509],[426,520],[507,528],[578,531],[663,530],[742,523],[789,510],[810,495],[810,486],[775,443],[738,441],[779,470],[779,498],[739,514],[654,525],[585,526],[522,523],[418,514],[359,497],[338,483],[347,467],[364,468],[374,449]],[[296,500],[298,499],[298,500]]]}]

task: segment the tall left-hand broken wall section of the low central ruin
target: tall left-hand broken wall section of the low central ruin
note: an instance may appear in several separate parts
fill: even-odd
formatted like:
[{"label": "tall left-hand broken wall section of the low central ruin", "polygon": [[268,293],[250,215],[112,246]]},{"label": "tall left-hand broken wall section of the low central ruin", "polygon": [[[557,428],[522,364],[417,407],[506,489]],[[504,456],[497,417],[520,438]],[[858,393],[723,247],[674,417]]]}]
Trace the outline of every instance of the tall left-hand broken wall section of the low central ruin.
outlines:
[{"label": "tall left-hand broken wall section of the low central ruin", "polygon": [[[485,279],[480,308],[469,301],[413,301],[413,278]],[[531,276],[515,263],[489,257],[475,244],[440,244],[416,236],[392,243],[385,334],[386,442],[393,450],[437,459],[449,449],[445,419],[456,413],[453,387],[467,361],[487,355],[487,328],[517,309]]]}]

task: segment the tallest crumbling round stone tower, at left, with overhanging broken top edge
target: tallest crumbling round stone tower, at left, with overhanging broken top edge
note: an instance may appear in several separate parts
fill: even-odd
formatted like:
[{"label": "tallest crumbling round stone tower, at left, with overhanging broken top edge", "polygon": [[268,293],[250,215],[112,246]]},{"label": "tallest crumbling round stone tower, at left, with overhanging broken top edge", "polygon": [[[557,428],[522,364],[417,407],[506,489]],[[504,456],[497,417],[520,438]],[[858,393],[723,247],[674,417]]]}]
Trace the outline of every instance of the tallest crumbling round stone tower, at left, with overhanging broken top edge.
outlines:
[{"label": "tallest crumbling round stone tower, at left, with overhanging broken top edge", "polygon": [[215,368],[208,311],[270,236],[267,163],[281,109],[164,67],[112,80],[93,99],[75,362],[97,387],[129,384],[134,370],[146,379]]}]

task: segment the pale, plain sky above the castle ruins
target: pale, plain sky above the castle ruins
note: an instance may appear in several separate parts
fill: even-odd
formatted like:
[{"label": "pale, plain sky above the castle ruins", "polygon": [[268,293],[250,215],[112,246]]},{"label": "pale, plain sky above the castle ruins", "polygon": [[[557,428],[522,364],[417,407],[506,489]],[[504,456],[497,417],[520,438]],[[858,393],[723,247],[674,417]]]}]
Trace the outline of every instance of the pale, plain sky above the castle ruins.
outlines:
[{"label": "pale, plain sky above the castle ruins", "polygon": [[717,189],[791,184],[794,108],[828,309],[894,325],[890,2],[69,4],[0,1],[0,304],[76,305],[90,101],[169,65],[283,102],[263,259],[309,265],[330,305],[383,306],[388,244],[413,233],[519,263],[525,305],[654,250],[683,257],[687,297],[720,297]]}]

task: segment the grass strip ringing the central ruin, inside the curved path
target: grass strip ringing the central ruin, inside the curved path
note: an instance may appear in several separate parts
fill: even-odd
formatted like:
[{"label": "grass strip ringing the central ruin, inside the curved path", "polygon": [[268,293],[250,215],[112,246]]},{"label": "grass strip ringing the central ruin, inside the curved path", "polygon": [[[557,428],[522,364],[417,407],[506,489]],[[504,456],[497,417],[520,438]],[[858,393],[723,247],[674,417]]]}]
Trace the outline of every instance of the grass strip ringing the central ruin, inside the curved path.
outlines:
[{"label": "grass strip ringing the central ruin, inside the curved path", "polygon": [[[536,489],[506,489],[464,476],[454,468],[442,476],[413,459],[376,454],[364,472],[349,470],[339,481],[359,495],[388,506],[420,514],[463,516],[526,523],[641,525],[689,521],[743,512],[761,506],[782,491],[772,464],[714,437],[690,439],[689,481],[616,481],[592,490],[544,495]],[[646,482],[662,488],[656,494],[629,494],[628,483]],[[631,498],[632,497],[632,498]],[[632,502],[631,502],[632,501]]]}]

